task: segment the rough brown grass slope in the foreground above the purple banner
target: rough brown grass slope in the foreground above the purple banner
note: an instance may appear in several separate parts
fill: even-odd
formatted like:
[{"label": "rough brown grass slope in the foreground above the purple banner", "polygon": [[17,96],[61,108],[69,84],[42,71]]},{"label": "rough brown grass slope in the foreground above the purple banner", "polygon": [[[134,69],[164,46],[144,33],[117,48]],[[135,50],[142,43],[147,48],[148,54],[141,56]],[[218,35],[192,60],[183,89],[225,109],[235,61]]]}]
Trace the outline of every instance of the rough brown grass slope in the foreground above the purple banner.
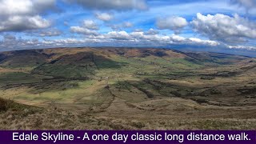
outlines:
[{"label": "rough brown grass slope in the foreground above the purple banner", "polygon": [[[0,99],[1,130],[254,130],[255,119],[108,118],[82,111],[26,106]],[[4,109],[3,105],[6,105]]]}]

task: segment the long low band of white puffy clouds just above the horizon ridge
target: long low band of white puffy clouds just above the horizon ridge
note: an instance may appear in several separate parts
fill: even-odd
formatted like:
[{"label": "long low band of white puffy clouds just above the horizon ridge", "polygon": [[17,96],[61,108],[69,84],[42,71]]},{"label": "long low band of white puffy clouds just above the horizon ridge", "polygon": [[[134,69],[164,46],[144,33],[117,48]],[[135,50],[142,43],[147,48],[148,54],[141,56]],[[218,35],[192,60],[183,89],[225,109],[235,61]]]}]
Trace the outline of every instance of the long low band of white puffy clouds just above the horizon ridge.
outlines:
[{"label": "long low band of white puffy clouds just above the horizon ridge", "polygon": [[[88,31],[84,28],[73,26],[71,30],[74,30],[76,33],[86,34],[84,41],[78,40],[78,43],[81,42],[98,42],[104,43],[106,46],[118,46],[117,44],[122,43],[122,45],[130,46],[130,44],[136,44],[138,46],[168,46],[168,45],[189,45],[189,46],[218,46],[218,42],[210,40],[202,40],[199,38],[184,38],[177,34],[161,35],[161,34],[146,34],[146,32],[130,32],[126,31],[110,31],[106,34],[91,34],[91,31]],[[72,40],[72,41],[71,41]],[[61,43],[61,41],[51,40],[56,43]],[[74,38],[66,39],[69,43],[76,42]],[[63,41],[63,44],[68,43]],[[45,43],[45,42],[44,42]],[[47,41],[46,43],[50,43]]]}]

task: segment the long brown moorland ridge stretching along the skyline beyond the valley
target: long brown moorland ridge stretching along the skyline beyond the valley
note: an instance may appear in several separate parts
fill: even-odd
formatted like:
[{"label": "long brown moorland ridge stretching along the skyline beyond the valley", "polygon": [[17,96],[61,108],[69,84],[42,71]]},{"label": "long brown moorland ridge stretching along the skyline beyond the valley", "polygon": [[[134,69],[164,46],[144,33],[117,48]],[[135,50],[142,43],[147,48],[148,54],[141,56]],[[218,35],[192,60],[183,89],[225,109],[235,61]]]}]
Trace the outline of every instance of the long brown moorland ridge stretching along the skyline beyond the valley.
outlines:
[{"label": "long brown moorland ridge stretching along the skyline beyond the valley", "polygon": [[58,66],[61,66],[60,68],[69,66],[73,70],[85,69],[89,73],[91,70],[122,66],[124,63],[118,62],[116,58],[157,58],[162,62],[179,59],[185,66],[189,63],[196,65],[229,64],[248,59],[245,56],[232,54],[186,53],[178,50],[153,48],[56,48],[2,52],[0,53],[0,66],[34,67],[34,73],[62,75],[61,73],[64,71],[56,71]]}]

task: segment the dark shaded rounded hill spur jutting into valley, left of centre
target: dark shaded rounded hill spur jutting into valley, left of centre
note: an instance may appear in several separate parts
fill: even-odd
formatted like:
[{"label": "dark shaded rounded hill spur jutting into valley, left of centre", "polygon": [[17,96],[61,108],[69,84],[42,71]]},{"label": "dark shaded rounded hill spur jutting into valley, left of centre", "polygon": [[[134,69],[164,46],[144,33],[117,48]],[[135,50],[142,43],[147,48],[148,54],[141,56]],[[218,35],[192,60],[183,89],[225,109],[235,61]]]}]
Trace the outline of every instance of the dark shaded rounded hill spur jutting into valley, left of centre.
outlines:
[{"label": "dark shaded rounded hill spur jutting into valley, left of centre", "polygon": [[32,74],[41,74],[62,78],[88,78],[95,70],[119,69],[125,62],[116,62],[92,52],[63,55],[51,62],[42,64],[32,70]]}]

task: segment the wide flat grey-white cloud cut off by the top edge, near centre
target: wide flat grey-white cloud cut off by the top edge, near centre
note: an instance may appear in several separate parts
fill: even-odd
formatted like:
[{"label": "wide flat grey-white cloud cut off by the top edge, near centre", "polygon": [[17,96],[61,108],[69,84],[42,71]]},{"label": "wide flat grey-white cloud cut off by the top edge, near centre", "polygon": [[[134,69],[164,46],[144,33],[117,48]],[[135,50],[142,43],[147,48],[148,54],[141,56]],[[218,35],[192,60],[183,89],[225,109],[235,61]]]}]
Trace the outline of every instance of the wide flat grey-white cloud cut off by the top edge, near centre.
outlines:
[{"label": "wide flat grey-white cloud cut off by the top edge, near centre", "polygon": [[75,2],[79,6],[95,10],[146,10],[147,5],[144,0],[66,0]]}]

